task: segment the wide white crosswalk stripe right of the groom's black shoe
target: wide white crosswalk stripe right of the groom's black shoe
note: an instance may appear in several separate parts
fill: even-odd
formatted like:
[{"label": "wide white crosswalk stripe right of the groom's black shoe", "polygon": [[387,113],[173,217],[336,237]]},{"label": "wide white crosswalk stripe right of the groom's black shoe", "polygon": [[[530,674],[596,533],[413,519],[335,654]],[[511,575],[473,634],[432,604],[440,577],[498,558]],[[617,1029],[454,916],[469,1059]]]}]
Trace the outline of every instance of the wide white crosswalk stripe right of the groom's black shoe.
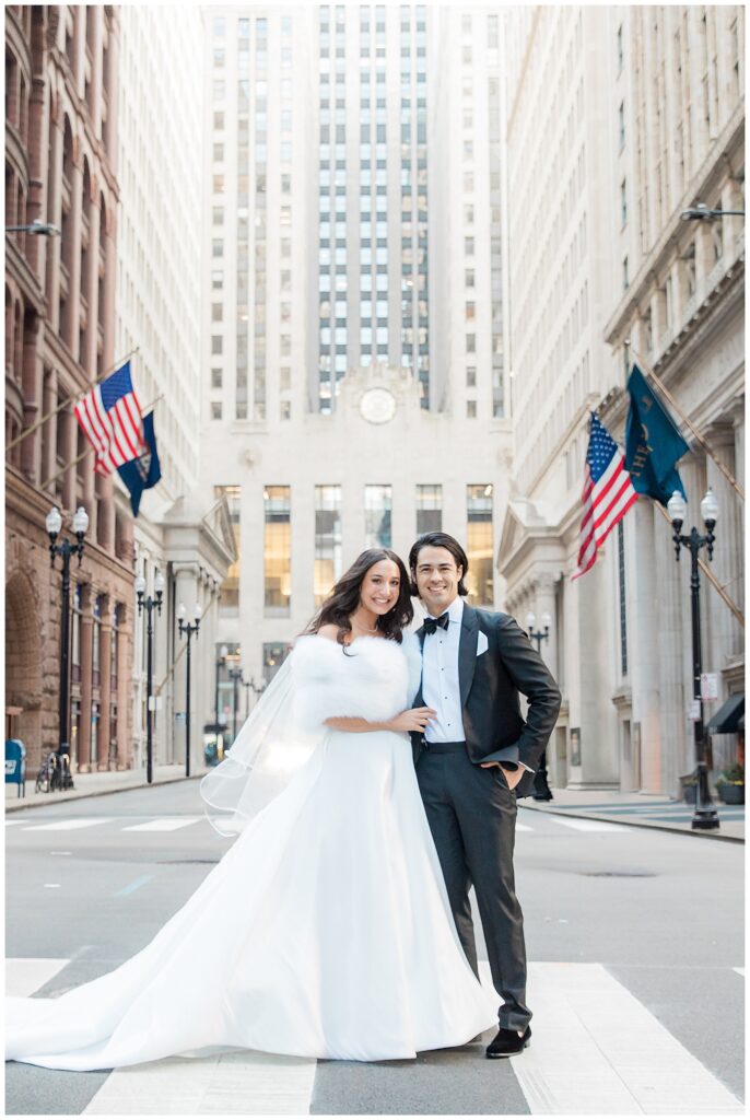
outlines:
[{"label": "wide white crosswalk stripe right of the groom's black shoe", "polygon": [[603,965],[532,962],[528,973],[532,1044],[510,1063],[532,1113],[744,1111]]}]

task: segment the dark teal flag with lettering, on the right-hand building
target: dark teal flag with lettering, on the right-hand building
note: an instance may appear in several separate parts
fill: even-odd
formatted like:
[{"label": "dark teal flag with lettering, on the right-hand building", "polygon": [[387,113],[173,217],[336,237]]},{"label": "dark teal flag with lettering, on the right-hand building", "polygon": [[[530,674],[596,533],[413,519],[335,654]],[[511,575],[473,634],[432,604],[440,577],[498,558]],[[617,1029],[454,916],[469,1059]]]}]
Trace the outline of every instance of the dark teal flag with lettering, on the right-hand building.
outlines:
[{"label": "dark teal flag with lettering, on the right-hand building", "polygon": [[664,404],[637,365],[628,379],[630,411],[625,429],[625,467],[639,494],[666,506],[674,491],[687,501],[675,466],[690,450]]}]

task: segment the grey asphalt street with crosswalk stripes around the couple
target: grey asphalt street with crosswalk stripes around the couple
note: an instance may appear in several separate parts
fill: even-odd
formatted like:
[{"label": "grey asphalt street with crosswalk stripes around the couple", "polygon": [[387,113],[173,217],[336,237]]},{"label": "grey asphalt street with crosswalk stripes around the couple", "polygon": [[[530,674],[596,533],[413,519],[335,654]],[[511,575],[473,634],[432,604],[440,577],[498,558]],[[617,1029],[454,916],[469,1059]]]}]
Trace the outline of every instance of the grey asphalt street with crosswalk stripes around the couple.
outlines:
[{"label": "grey asphalt street with crosswalk stripes around the couple", "polygon": [[[585,989],[592,993],[589,1002],[609,1006],[612,1016],[616,1007],[622,1008],[615,1017],[626,1037],[627,1030],[653,1029],[654,1046],[664,1045],[665,1054],[677,1054],[686,1063],[690,1075],[707,1086],[706,1100],[712,1092],[721,1096],[726,1091],[741,1100],[742,846],[616,823],[564,821],[523,809],[518,823],[516,885],[525,913],[528,1000],[537,1034],[532,1048],[513,1062],[487,1062],[481,1044],[419,1055],[415,1062],[296,1065],[275,1060],[275,1065],[262,1065],[262,1077],[257,1073],[256,1082],[265,1079],[266,1095],[273,1091],[279,1103],[288,1088],[297,1103],[293,1109],[287,1103],[287,1111],[325,1114],[545,1111],[535,1094],[533,1064],[540,1063],[544,1074],[550,1045],[544,1040],[545,1020],[551,1024],[556,1017],[561,1054],[574,1045],[573,1028],[587,1023],[589,1042],[598,1042],[601,1032],[599,1048],[611,1053],[608,1061],[617,1065],[612,1024],[592,1018],[590,1007],[576,1004]],[[232,843],[203,819],[195,781],[69,804],[50,800],[48,806],[8,814],[6,825],[8,981],[26,995],[59,993],[143,948]],[[221,943],[205,946],[206,953],[221,951]],[[576,1061],[571,1049],[570,1064]],[[181,1062],[169,1066],[170,1076],[177,1068],[182,1080],[189,1076],[189,1063]],[[552,1070],[554,1062],[547,1065]],[[134,1105],[122,1094],[137,1084],[137,1074],[128,1082],[126,1073],[62,1073],[10,1063],[6,1111],[132,1112]],[[235,1077],[232,1084],[237,1085],[237,1079],[245,1079],[236,1107],[225,1093],[224,1102],[229,1103],[224,1111],[281,1110],[281,1104],[269,1107],[268,1100],[261,1108],[262,1094],[242,1098],[243,1092],[252,1096],[251,1057],[235,1055],[214,1073],[217,1083],[222,1076]],[[606,1073],[602,1068],[602,1077]],[[662,1091],[668,1096],[673,1090],[667,1073],[665,1068]],[[547,1093],[554,1099],[547,1100],[546,1111],[562,1111],[555,1101],[573,1099],[565,1093],[585,1096],[585,1065],[574,1079],[580,1085],[563,1084],[555,1076],[553,1071]],[[637,1098],[638,1090],[632,1092]],[[150,1099],[154,1107],[147,1111],[156,1111],[157,1104],[169,1110],[168,1096],[161,1103],[153,1093]],[[132,1104],[135,1095],[130,1100]],[[195,1111],[218,1109],[206,1099]],[[596,1109],[579,1102],[575,1111]],[[679,1101],[676,1111],[686,1111]]]}]

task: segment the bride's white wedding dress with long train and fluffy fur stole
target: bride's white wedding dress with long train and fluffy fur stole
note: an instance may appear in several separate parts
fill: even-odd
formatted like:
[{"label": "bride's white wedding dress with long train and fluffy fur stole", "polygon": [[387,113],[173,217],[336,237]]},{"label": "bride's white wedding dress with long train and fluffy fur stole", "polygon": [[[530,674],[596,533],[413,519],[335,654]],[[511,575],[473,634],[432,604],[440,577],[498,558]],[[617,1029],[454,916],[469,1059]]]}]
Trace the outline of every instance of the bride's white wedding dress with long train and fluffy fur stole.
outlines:
[{"label": "bride's white wedding dress with long train and fluffy fur stole", "polygon": [[345,653],[309,635],[290,659],[296,717],[319,730],[312,754],[146,949],[57,999],[8,999],[8,1058],[413,1058],[497,1026],[498,997],[456,933],[409,736],[322,727],[407,707],[404,648],[360,637]]}]

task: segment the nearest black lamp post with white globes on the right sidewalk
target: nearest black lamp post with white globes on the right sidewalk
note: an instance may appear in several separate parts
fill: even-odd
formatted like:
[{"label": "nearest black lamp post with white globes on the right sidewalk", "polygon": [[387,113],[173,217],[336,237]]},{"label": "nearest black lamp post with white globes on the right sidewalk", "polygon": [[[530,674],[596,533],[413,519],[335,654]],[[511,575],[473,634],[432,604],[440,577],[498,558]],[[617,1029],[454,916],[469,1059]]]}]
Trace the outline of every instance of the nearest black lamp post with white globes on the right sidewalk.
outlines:
[{"label": "nearest black lamp post with white globes on the right sidewalk", "polygon": [[699,553],[705,547],[709,560],[713,559],[713,534],[716,517],[719,516],[719,503],[713,492],[706,491],[705,497],[701,502],[701,516],[705,522],[706,534],[702,536],[697,529],[693,526],[690,535],[681,534],[683,521],[687,513],[687,504],[679,493],[675,491],[667,503],[672,528],[674,529],[673,541],[675,544],[675,557],[679,562],[679,550],[686,548],[691,554],[691,619],[693,627],[693,707],[697,712],[697,719],[693,719],[693,736],[695,740],[695,767],[697,783],[695,786],[695,812],[691,827],[694,829],[718,829],[720,827],[719,813],[716,812],[711,794],[709,793],[709,769],[705,762],[705,731],[703,726],[703,700],[701,697],[701,673],[703,672],[701,657],[701,584],[699,579]]}]

